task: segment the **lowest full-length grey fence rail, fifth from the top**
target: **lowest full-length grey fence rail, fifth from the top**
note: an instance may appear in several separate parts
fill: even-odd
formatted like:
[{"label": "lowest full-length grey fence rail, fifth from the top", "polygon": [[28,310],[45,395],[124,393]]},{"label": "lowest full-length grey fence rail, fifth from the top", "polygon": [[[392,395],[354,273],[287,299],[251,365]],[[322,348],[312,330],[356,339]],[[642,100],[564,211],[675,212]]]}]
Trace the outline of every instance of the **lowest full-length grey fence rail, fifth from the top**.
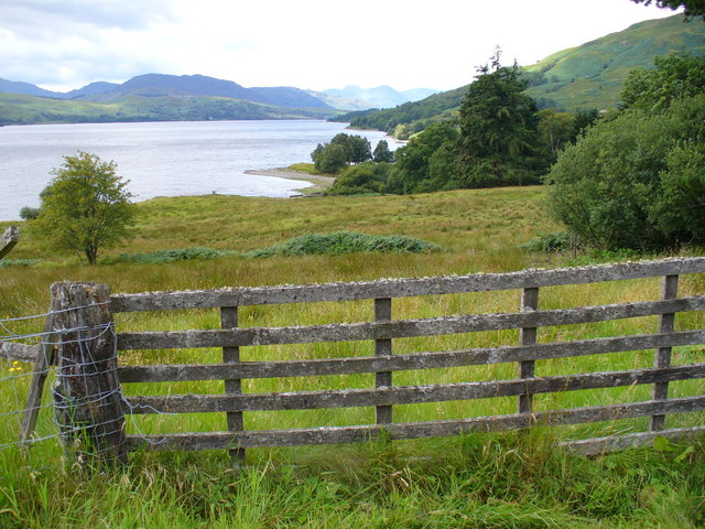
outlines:
[{"label": "lowest full-length grey fence rail, fifth from the top", "polygon": [[[626,404],[574,408],[542,411],[531,415],[478,417],[471,419],[393,423],[383,425],[324,427],[295,430],[230,432],[172,433],[159,435],[130,435],[130,450],[151,447],[158,451],[172,450],[223,450],[230,446],[299,446],[306,444],[338,444],[367,441],[384,431],[392,439],[422,439],[457,435],[470,431],[498,432],[527,428],[532,423],[550,427],[583,424],[648,417],[654,413],[687,413],[705,410],[705,396],[670,399],[668,401],[643,401]],[[535,422],[534,422],[535,421]]]}]

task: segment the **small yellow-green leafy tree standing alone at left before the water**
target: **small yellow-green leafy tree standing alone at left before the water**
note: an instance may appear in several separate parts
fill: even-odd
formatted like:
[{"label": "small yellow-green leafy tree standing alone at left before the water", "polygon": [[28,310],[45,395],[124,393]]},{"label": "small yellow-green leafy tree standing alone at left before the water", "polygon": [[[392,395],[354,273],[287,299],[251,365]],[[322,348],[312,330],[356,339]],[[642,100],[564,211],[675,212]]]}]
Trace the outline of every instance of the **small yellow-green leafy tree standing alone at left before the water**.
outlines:
[{"label": "small yellow-green leafy tree standing alone at left before the water", "polygon": [[78,151],[64,156],[53,180],[42,192],[32,231],[46,247],[76,253],[96,264],[98,251],[131,236],[135,206],[127,181],[116,174],[115,162]]}]

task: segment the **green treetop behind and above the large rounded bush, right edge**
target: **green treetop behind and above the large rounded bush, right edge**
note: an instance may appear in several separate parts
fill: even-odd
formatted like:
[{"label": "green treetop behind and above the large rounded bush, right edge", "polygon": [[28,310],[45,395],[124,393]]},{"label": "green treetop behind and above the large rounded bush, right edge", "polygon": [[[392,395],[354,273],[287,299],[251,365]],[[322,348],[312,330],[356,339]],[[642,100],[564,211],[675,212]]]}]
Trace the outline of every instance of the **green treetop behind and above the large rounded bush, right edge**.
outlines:
[{"label": "green treetop behind and above the large rounded bush, right edge", "polygon": [[679,52],[655,57],[653,64],[654,68],[632,71],[625,79],[626,108],[660,111],[676,99],[705,93],[705,55]]}]

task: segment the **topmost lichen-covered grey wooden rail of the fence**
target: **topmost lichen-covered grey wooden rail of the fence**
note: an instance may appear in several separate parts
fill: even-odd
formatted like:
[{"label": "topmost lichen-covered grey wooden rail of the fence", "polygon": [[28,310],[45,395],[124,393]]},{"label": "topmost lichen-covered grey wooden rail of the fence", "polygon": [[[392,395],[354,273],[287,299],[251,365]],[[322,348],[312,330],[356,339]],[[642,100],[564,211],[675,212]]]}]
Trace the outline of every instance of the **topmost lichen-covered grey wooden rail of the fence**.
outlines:
[{"label": "topmost lichen-covered grey wooden rail of the fence", "polygon": [[705,258],[703,257],[556,270],[523,270],[509,273],[386,279],[357,283],[117,294],[111,298],[111,310],[112,312],[164,311],[275,303],[404,298],[532,287],[554,287],[561,284],[583,284],[698,272],[705,272]]}]

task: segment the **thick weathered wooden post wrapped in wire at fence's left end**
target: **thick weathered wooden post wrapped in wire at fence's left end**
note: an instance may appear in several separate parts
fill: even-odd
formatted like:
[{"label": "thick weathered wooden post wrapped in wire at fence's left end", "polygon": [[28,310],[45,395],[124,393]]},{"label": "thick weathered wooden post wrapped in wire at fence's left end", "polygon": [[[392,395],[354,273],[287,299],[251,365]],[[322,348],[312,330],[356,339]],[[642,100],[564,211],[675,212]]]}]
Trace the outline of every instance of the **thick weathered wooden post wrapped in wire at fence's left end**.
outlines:
[{"label": "thick weathered wooden post wrapped in wire at fence's left end", "polygon": [[117,343],[105,284],[52,284],[57,336],[54,410],[68,453],[80,462],[127,463]]}]

